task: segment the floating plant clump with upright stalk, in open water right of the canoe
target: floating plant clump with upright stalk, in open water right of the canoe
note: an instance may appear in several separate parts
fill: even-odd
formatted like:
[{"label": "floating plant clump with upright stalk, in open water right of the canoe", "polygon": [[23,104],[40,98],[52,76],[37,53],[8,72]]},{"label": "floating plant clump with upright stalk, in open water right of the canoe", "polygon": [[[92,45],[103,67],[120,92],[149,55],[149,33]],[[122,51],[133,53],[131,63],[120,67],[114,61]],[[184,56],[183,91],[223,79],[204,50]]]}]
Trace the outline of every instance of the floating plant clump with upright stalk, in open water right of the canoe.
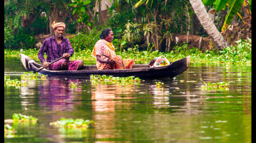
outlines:
[{"label": "floating plant clump with upright stalk, in open water right of the canoe", "polygon": [[[200,78],[200,80],[202,80],[202,78]],[[202,80],[203,83],[205,83]],[[227,87],[228,85],[230,85],[230,83],[226,83],[226,82],[219,82],[219,83],[210,83],[208,82],[207,84],[205,83],[205,85],[201,86],[202,90],[229,90],[229,88]]]}]

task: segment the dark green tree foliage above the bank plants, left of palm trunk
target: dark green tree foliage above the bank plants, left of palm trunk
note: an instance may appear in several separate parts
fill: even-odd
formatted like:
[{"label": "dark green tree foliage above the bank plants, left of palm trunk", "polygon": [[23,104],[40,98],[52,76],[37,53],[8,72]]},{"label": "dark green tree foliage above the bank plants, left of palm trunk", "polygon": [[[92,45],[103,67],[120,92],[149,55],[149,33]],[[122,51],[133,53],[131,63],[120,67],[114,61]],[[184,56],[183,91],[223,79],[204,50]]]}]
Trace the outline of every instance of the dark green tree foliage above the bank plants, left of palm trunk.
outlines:
[{"label": "dark green tree foliage above the bank plants, left of palm trunk", "polygon": [[[95,0],[73,2],[70,0],[9,0],[4,5],[4,47],[34,48],[36,42],[34,36],[39,33],[49,33],[49,28],[51,28],[49,18],[52,18],[50,15],[53,16],[53,11],[64,13],[62,16],[66,17],[59,15],[55,19],[64,19],[68,33],[77,32],[85,35],[76,34],[76,36],[81,36],[79,39],[74,39],[77,43],[83,41],[93,44],[94,41],[90,39],[98,38],[97,33],[104,27],[108,27],[112,28],[115,33],[116,40],[114,42],[122,48],[154,43],[153,48],[159,49],[168,35],[187,32],[189,26],[187,20],[193,14],[191,6],[187,6],[189,5],[188,0],[157,1],[152,6],[141,6],[140,9],[134,9],[136,3],[137,1],[134,0],[114,1],[112,7],[109,8],[109,20],[102,23],[99,13],[95,11]],[[25,22],[30,23],[25,24]],[[132,27],[128,28],[131,23]],[[88,40],[88,38],[90,39]],[[79,43],[78,48],[83,50],[85,47],[92,47],[91,45]],[[144,47],[147,48],[147,46]]]}]

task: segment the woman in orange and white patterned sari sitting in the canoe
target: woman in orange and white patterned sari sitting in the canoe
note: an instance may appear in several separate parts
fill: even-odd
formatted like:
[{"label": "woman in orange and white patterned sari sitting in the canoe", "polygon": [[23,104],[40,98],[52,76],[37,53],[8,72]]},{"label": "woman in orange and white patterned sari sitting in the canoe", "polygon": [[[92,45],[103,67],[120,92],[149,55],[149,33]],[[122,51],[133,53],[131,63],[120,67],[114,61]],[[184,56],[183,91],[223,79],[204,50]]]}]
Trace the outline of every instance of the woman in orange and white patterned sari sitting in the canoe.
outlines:
[{"label": "woman in orange and white patterned sari sitting in the canoe", "polygon": [[106,28],[102,31],[101,38],[94,46],[92,56],[96,58],[98,70],[109,69],[130,69],[135,64],[132,59],[122,59],[120,55],[114,52],[112,40],[114,38],[113,31]]}]

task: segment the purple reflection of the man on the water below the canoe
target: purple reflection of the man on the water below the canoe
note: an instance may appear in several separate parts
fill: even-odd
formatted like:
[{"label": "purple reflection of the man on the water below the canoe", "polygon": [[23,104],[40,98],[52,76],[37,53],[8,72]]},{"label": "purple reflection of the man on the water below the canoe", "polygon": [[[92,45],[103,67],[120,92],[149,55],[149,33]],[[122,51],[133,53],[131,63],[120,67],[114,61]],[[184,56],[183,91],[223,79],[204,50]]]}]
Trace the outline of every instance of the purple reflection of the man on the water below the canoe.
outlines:
[{"label": "purple reflection of the man on the water below the canoe", "polygon": [[38,86],[39,107],[54,111],[74,110],[74,104],[79,104],[79,102],[74,102],[75,92],[76,94],[82,92],[82,88],[79,88],[78,84],[78,88],[72,89],[69,84],[79,83],[79,80],[51,78]]}]

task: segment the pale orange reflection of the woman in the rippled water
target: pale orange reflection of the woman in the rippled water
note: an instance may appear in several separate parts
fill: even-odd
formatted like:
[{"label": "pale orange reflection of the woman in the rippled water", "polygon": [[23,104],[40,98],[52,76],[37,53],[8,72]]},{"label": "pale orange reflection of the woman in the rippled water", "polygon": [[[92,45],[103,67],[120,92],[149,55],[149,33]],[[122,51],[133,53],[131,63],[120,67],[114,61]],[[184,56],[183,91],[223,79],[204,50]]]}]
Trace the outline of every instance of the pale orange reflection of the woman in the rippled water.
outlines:
[{"label": "pale orange reflection of the woman in the rippled water", "polygon": [[[119,105],[128,107],[129,102],[122,102],[124,99],[132,99],[135,85],[105,85],[97,84],[92,90],[92,111],[93,120],[97,122],[94,126],[96,139],[117,138],[115,134],[116,110]],[[119,95],[124,95],[123,97]],[[126,96],[128,95],[128,96]]]}]

